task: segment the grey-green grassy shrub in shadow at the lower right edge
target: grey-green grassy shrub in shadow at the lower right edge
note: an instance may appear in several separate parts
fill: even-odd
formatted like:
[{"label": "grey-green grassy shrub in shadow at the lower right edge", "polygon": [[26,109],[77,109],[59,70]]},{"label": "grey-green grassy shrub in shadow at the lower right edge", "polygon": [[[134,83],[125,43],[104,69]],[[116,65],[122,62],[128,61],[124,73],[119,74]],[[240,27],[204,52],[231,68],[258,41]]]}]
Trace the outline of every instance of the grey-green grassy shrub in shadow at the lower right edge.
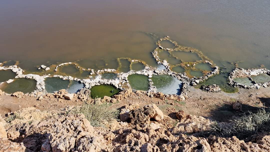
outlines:
[{"label": "grey-green grassy shrub in shadow at the lower right edge", "polygon": [[270,131],[270,113],[261,109],[258,110],[258,113],[250,112],[249,115],[232,119],[229,123],[216,122],[203,135],[215,135],[219,137],[236,136],[238,139],[248,139],[264,131]]}]

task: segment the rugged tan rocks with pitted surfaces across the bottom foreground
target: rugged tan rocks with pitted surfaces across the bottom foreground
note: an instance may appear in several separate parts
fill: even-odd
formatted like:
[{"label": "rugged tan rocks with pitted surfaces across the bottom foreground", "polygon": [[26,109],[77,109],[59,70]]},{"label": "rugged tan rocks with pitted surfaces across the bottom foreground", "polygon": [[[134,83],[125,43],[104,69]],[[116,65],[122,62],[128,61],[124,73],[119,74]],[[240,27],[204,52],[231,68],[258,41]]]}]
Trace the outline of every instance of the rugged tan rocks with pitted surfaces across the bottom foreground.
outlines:
[{"label": "rugged tan rocks with pitted surfaces across the bottom foreground", "polygon": [[[65,152],[65,151],[262,151],[270,150],[270,136],[262,134],[252,142],[237,137],[200,137],[213,120],[201,116],[176,113],[177,124],[155,104],[140,107],[126,105],[105,127],[93,127],[83,114],[66,114],[73,107],[43,111],[29,107],[10,113],[14,120],[0,118],[0,151]],[[124,112],[129,109],[129,112]],[[223,123],[223,125],[225,125]]]}]

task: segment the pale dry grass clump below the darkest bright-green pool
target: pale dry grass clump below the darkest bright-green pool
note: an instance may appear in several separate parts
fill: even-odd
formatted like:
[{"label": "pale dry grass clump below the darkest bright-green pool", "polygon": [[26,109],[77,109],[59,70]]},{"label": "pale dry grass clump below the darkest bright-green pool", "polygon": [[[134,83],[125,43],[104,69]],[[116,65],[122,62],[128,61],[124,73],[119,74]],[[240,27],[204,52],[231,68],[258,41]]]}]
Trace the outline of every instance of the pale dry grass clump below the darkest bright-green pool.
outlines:
[{"label": "pale dry grass clump below the darkest bright-green pool", "polygon": [[105,127],[104,124],[111,123],[119,116],[117,109],[110,109],[107,104],[84,103],[82,106],[76,106],[69,114],[84,114],[94,127]]}]

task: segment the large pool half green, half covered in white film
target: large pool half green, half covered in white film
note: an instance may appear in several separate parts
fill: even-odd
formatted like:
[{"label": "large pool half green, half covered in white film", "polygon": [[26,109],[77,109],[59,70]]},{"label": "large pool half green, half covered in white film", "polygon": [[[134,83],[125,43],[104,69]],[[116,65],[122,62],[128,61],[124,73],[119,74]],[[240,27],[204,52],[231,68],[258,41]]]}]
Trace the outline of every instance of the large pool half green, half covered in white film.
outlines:
[{"label": "large pool half green, half covered in white film", "polygon": [[154,75],[152,78],[153,86],[157,87],[157,92],[164,94],[181,94],[183,82],[169,75]]}]

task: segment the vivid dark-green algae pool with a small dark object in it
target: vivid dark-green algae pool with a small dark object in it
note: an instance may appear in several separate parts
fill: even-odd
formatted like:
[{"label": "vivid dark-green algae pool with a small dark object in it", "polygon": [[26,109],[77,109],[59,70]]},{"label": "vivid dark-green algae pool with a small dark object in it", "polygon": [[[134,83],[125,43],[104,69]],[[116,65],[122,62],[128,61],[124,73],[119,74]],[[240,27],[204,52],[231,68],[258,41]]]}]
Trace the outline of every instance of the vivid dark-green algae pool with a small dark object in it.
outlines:
[{"label": "vivid dark-green algae pool with a small dark object in it", "polygon": [[94,98],[102,98],[104,96],[111,97],[117,93],[119,93],[120,90],[116,89],[114,86],[111,85],[99,85],[99,86],[93,86],[90,89],[91,91],[91,97]]}]

